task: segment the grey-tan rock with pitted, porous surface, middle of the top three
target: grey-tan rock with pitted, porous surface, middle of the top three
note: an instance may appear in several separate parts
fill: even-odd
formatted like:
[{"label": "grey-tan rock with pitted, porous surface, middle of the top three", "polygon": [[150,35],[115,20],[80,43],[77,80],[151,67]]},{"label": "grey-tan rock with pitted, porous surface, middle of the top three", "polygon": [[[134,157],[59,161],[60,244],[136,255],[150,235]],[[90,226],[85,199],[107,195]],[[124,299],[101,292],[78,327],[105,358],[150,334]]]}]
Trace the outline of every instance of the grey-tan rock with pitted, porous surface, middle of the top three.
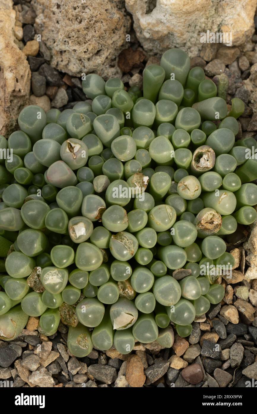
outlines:
[{"label": "grey-tan rock with pitted, porous surface, middle of the top three", "polygon": [[51,51],[51,65],[69,75],[121,76],[116,57],[128,44],[124,1],[33,0],[35,30]]}]

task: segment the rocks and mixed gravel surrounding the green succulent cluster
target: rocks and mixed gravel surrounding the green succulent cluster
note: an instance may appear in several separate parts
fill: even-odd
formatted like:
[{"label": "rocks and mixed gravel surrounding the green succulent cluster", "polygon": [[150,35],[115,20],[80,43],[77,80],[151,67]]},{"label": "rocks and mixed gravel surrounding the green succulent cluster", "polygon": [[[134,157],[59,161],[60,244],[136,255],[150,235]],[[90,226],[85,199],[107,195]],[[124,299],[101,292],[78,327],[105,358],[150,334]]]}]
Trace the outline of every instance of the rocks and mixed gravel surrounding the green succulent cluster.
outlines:
[{"label": "rocks and mixed gravel surrounding the green succulent cluster", "polygon": [[[17,128],[28,104],[47,111],[86,99],[83,73],[141,87],[145,65],[180,47],[228,108],[233,97],[244,101],[236,139],[257,138],[255,8],[256,0],[1,0],[0,134]],[[207,30],[231,31],[233,46],[200,43]],[[137,343],[130,355],[93,350],[78,359],[67,350],[66,325],[46,337],[30,317],[20,337],[0,341],[0,380],[13,387],[245,387],[257,380],[257,224],[227,250],[236,265],[229,284],[216,281],[224,300],[196,318],[188,338],[176,335],[171,349]]]}]

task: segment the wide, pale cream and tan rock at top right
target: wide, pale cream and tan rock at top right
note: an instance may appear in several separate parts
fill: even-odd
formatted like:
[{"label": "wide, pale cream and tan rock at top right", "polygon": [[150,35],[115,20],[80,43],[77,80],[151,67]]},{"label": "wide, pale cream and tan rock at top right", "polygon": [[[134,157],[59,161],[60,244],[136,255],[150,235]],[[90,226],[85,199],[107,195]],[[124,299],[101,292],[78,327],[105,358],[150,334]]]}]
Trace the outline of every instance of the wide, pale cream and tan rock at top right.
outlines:
[{"label": "wide, pale cream and tan rock at top right", "polygon": [[125,0],[125,3],[134,19],[137,38],[152,55],[161,55],[172,47],[196,55],[203,46],[199,34],[207,29],[231,31],[233,46],[242,46],[254,31],[256,0]]}]

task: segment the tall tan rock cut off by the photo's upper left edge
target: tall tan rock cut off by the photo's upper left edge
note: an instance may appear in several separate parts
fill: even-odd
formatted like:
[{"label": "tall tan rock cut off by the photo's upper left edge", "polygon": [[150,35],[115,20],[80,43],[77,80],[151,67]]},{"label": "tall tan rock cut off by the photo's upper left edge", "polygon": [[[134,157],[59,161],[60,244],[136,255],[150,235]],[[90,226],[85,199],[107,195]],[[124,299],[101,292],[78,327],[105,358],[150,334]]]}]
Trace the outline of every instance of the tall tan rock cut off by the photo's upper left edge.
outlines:
[{"label": "tall tan rock cut off by the photo's upper left edge", "polygon": [[12,0],[0,3],[0,135],[9,137],[21,109],[28,104],[31,71],[17,47]]}]

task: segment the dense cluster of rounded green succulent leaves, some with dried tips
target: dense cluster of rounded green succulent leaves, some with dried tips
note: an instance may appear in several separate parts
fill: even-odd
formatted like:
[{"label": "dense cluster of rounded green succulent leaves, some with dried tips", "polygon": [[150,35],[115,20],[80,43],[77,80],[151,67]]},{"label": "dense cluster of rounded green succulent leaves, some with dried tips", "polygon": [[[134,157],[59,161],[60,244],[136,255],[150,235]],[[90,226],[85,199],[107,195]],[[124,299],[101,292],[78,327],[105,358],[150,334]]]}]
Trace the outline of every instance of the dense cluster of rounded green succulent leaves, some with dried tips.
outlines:
[{"label": "dense cluster of rounded green succulent leaves, some with dried tips", "polygon": [[126,89],[87,75],[85,102],[26,106],[0,137],[1,339],[35,316],[45,335],[68,325],[75,356],[171,347],[172,326],[188,336],[222,300],[208,266],[233,267],[226,241],[257,216],[256,142],[235,140],[244,104],[228,110],[180,49]]}]

